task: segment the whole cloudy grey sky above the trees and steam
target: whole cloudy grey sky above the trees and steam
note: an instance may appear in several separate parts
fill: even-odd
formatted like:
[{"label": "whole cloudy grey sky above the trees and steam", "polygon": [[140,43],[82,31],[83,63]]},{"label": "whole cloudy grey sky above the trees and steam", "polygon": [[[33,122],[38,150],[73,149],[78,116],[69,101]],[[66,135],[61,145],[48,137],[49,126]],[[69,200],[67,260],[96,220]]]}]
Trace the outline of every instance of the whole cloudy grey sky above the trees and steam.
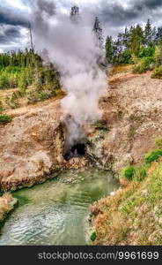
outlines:
[{"label": "whole cloudy grey sky above the trees and steam", "polygon": [[162,0],[0,0],[0,52],[29,47],[28,22],[38,4],[42,10],[54,8],[54,20],[56,13],[70,13],[77,4],[80,14],[99,17],[105,37],[115,38],[126,26],[144,26],[147,19],[162,26]]}]

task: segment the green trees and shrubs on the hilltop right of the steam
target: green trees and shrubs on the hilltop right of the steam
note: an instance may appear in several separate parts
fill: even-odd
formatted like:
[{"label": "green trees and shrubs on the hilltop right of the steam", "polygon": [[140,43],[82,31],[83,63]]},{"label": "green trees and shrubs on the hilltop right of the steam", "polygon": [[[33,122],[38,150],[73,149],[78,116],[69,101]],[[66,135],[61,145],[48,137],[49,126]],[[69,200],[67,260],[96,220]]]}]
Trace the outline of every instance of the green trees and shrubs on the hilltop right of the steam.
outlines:
[{"label": "green trees and shrubs on the hilltop right of the steam", "polygon": [[132,72],[154,70],[151,77],[162,78],[162,27],[152,27],[150,19],[144,28],[125,27],[115,40],[107,36],[105,48],[109,64],[132,64]]}]

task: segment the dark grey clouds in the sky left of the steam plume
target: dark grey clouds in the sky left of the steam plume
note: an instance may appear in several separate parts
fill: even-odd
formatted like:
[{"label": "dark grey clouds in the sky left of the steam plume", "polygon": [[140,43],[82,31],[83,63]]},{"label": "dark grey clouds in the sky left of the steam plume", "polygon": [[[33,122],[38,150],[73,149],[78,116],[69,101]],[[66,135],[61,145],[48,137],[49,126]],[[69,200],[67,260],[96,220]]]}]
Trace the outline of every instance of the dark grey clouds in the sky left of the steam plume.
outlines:
[{"label": "dark grey clouds in the sky left of the steam plume", "polygon": [[[35,17],[40,24],[43,14],[48,14],[49,17],[55,14],[54,2],[45,0],[28,0],[26,4],[35,10]],[[29,13],[22,13],[13,8],[6,8],[0,6],[0,47],[14,47],[18,43],[21,46],[20,40],[23,36],[20,34],[21,27],[28,27],[28,22],[31,19]],[[4,48],[5,49],[5,48]]]}]

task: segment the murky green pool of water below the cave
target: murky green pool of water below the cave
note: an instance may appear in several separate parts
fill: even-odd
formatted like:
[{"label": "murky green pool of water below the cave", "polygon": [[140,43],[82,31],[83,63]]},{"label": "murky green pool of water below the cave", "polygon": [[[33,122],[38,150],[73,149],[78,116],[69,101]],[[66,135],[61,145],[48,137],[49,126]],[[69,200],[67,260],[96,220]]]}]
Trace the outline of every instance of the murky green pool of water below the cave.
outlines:
[{"label": "murky green pool of water below the cave", "polygon": [[0,245],[85,245],[93,201],[118,188],[105,170],[66,170],[58,178],[14,193],[18,207],[1,231]]}]

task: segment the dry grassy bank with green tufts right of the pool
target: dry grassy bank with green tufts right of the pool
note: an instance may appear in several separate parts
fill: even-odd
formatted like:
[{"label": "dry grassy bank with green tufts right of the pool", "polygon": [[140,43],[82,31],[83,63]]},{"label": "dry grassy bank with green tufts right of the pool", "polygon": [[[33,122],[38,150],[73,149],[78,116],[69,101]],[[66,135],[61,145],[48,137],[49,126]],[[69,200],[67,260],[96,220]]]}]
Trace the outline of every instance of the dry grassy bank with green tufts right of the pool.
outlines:
[{"label": "dry grassy bank with green tufts right of the pool", "polygon": [[162,163],[152,163],[142,182],[92,205],[94,245],[162,245]]}]

